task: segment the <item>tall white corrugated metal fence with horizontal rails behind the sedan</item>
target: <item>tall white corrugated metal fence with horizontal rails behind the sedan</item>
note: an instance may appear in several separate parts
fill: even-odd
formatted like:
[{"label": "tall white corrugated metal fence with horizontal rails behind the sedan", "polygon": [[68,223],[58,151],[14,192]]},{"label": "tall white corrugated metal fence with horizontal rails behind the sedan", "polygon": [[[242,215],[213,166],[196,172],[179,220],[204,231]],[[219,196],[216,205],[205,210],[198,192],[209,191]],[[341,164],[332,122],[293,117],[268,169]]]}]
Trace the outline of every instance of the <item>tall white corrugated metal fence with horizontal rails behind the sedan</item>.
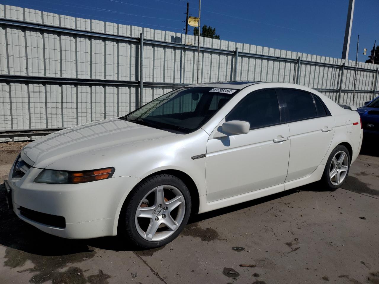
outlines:
[{"label": "tall white corrugated metal fence with horizontal rails behind the sedan", "polygon": [[[362,106],[378,66],[0,5],[0,141],[127,114],[179,86],[298,83]],[[142,67],[142,68],[141,68]]]}]

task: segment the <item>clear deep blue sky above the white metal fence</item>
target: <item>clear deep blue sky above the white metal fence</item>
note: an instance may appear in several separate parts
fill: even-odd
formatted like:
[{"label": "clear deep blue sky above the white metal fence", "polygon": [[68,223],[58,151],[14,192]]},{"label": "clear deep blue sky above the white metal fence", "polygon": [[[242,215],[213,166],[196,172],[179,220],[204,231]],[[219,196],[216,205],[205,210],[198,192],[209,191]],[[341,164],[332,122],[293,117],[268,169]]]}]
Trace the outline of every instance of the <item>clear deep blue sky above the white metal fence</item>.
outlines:
[{"label": "clear deep blue sky above the white metal fence", "polygon": [[[3,0],[20,6],[87,19],[184,32],[182,0]],[[189,12],[198,15],[197,0]],[[221,39],[304,53],[341,57],[349,0],[203,0],[201,25],[211,25]],[[365,61],[379,43],[379,1],[356,0],[349,59]],[[192,30],[192,29],[191,29]],[[189,32],[192,34],[192,31]]]}]

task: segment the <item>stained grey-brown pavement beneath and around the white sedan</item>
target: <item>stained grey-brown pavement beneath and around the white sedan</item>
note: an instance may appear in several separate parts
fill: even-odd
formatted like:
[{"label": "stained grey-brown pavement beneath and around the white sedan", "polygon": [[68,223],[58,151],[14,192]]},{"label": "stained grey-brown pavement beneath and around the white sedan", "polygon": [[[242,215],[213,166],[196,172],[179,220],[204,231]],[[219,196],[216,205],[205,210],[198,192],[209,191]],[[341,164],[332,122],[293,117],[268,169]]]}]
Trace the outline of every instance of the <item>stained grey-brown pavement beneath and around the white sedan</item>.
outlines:
[{"label": "stained grey-brown pavement beneath and around the white sedan", "polygon": [[19,220],[2,183],[17,154],[0,152],[0,283],[379,284],[377,153],[360,155],[334,192],[310,184],[196,215],[172,243],[145,251]]}]

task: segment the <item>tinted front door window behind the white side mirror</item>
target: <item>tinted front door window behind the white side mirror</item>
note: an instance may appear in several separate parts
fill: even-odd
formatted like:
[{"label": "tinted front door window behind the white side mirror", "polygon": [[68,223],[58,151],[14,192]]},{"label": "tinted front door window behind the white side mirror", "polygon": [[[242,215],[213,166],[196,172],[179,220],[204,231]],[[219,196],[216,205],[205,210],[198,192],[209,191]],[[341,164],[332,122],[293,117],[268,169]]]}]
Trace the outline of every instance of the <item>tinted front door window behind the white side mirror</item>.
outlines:
[{"label": "tinted front door window behind the white side mirror", "polygon": [[246,95],[226,116],[226,121],[230,120],[247,121],[250,129],[280,123],[276,92],[264,90]]}]

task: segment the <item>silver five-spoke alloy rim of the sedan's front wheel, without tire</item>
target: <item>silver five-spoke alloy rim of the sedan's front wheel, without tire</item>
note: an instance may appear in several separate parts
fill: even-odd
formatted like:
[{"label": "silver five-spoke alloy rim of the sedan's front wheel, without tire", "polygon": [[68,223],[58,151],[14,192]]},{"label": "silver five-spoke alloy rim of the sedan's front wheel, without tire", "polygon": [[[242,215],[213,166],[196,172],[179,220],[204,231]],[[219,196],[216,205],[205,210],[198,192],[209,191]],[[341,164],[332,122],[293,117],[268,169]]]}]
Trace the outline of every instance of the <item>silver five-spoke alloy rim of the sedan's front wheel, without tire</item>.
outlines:
[{"label": "silver five-spoke alloy rim of the sedan's front wheel, without tire", "polygon": [[[169,200],[165,197],[165,190],[170,193],[166,194]],[[148,197],[152,206],[149,206]],[[163,185],[153,188],[142,198],[136,210],[135,224],[139,235],[151,242],[168,238],[182,223],[185,209],[183,194],[177,187]],[[141,228],[141,219],[150,220],[146,230]]]}]

